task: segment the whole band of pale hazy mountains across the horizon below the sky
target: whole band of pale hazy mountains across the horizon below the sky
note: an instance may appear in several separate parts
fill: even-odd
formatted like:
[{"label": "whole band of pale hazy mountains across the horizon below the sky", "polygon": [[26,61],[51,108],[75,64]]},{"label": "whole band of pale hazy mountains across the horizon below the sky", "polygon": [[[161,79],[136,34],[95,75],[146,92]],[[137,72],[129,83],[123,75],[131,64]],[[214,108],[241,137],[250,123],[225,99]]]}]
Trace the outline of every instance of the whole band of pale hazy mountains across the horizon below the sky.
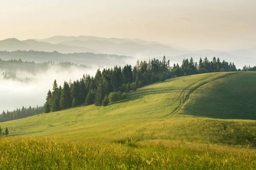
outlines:
[{"label": "whole band of pale hazy mountains across the horizon below the sky", "polygon": [[[233,59],[235,57],[237,61],[241,61],[241,59],[244,60],[245,58],[252,59],[254,61],[256,58],[256,46],[236,51],[187,51],[182,49],[183,48],[173,48],[169,45],[156,41],[128,38],[102,38],[92,36],[54,36],[47,39],[33,39],[24,41],[12,38],[0,41],[0,51],[58,51],[59,53],[64,54],[92,52],[95,54],[116,54],[135,58],[163,57],[165,55],[167,57],[172,57],[170,58],[171,60],[178,58],[179,61],[180,58],[183,57],[211,58],[212,56],[215,56],[222,59]],[[255,65],[256,62],[253,62],[252,64]]]}]

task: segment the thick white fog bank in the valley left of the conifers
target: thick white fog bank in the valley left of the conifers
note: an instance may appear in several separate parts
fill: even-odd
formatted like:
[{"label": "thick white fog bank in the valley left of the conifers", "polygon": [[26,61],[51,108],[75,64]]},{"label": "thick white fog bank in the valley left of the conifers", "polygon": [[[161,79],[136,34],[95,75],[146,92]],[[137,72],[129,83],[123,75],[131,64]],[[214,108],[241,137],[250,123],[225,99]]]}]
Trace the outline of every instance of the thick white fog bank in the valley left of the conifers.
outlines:
[{"label": "thick white fog bank in the valley left of the conifers", "polygon": [[51,65],[47,71],[40,71],[32,74],[26,71],[16,71],[16,76],[20,79],[29,77],[30,82],[20,82],[18,80],[3,79],[0,75],[0,112],[3,110],[12,111],[16,108],[43,106],[47,91],[52,90],[54,79],[58,86],[63,85],[64,81],[80,79],[83,74],[95,75],[99,66],[91,68],[79,68],[71,66],[63,69],[58,65]]}]

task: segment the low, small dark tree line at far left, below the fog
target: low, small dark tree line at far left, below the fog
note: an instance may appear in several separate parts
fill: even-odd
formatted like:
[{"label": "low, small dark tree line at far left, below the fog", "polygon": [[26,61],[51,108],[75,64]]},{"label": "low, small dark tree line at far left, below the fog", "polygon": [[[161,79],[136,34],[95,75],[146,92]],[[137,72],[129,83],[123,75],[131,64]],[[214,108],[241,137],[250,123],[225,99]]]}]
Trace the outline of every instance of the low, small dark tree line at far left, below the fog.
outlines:
[{"label": "low, small dark tree line at far left, below the fog", "polygon": [[29,106],[29,108],[25,108],[24,106],[20,109],[17,108],[14,111],[3,111],[2,114],[0,114],[0,122],[6,122],[6,121],[10,121],[10,120],[15,120],[15,119],[22,119],[25,117],[29,117],[29,116],[34,116],[37,114],[41,114],[44,111],[44,107],[43,106],[37,106],[36,108],[33,107],[31,108],[31,106]]}]

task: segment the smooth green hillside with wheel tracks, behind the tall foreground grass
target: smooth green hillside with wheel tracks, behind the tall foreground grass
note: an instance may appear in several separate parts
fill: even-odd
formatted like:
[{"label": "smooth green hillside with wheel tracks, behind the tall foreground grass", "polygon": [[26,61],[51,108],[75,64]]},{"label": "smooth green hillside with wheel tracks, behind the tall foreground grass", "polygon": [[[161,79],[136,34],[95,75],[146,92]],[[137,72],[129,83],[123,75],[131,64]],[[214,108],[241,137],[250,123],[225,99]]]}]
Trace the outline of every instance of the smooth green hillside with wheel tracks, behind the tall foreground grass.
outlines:
[{"label": "smooth green hillside with wheel tracks, behind the tall foreground grass", "polygon": [[255,77],[254,72],[226,72],[168,79],[131,92],[127,100],[107,107],[72,108],[0,126],[9,127],[11,136],[105,142],[169,139],[254,146],[256,121],[224,119],[256,119]]}]

